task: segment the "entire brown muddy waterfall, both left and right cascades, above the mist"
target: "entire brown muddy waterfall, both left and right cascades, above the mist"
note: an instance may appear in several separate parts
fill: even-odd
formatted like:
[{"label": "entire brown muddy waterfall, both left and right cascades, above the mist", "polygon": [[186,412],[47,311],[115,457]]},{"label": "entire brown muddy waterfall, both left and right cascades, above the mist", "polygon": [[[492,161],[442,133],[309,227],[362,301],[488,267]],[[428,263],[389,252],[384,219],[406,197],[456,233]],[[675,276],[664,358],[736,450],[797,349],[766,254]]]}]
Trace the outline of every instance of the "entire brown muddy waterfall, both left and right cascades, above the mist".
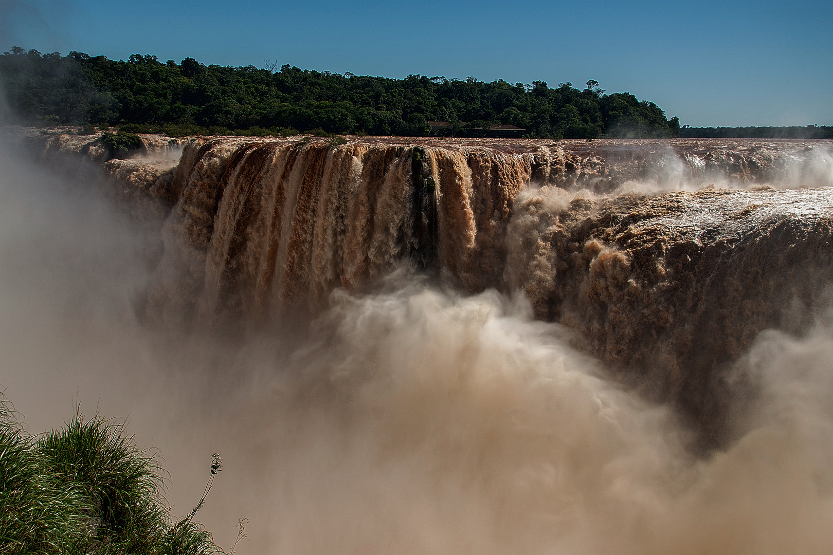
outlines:
[{"label": "entire brown muddy waterfall, both left and right cascades, above the mist", "polygon": [[[173,169],[105,169],[132,206],[167,214],[147,314],[168,325],[315,312],[334,288],[363,290],[411,259],[461,290],[524,291],[536,317],[580,332],[714,446],[732,397],[754,386],[733,362],[761,330],[801,333],[826,298],[831,150],[197,137]],[[778,188],[796,186],[822,187]]]}]

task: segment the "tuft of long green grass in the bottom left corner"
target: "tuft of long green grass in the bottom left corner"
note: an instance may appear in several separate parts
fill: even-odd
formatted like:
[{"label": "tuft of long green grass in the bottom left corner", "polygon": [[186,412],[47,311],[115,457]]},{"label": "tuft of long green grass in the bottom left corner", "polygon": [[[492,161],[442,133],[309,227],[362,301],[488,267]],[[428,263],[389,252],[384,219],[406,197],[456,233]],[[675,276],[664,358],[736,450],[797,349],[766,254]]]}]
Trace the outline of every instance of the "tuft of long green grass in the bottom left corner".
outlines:
[{"label": "tuft of long green grass in the bottom left corner", "polygon": [[32,437],[16,416],[0,394],[0,555],[222,553],[196,510],[171,517],[163,469],[123,424],[79,410]]}]

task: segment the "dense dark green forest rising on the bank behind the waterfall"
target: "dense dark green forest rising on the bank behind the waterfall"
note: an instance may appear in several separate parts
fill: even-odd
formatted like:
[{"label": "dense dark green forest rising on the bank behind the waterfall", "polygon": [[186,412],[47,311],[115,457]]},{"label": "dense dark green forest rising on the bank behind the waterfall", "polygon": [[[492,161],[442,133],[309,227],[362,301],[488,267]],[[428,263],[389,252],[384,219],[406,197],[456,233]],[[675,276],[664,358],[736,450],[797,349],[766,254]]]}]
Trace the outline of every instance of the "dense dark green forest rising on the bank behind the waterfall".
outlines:
[{"label": "dense dark green forest rising on the bank behind the waterfall", "polygon": [[12,48],[0,56],[7,102],[28,124],[95,124],[126,131],[187,135],[329,133],[472,135],[497,125],[551,138],[673,137],[679,120],[630,93],[604,94],[562,83],[531,85],[410,75],[404,79],[344,75],[285,65],[205,66],[133,54],[127,61],[82,52],[41,54]]}]

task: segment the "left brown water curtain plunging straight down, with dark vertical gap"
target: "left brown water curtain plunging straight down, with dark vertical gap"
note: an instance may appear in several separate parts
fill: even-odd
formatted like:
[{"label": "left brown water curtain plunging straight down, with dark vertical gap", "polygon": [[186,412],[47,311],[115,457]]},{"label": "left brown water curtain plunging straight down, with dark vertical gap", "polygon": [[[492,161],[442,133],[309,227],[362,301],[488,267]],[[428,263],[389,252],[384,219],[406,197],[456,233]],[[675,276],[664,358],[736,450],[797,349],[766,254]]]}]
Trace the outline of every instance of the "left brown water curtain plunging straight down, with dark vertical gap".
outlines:
[{"label": "left brown water curtain plunging straight down, with dark vertical gap", "polygon": [[499,286],[533,163],[484,148],[194,140],[171,184],[157,310],[222,321],[315,310],[405,259],[466,290]]}]

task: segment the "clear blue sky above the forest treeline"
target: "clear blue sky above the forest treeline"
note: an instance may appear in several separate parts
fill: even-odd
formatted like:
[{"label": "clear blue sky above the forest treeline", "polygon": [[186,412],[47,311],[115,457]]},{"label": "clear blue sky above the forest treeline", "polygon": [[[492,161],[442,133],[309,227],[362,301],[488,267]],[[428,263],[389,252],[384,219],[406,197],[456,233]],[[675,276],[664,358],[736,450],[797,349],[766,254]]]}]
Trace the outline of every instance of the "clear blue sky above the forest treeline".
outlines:
[{"label": "clear blue sky above the forest treeline", "polygon": [[691,126],[833,125],[826,2],[0,0],[0,51],[571,82]]}]

